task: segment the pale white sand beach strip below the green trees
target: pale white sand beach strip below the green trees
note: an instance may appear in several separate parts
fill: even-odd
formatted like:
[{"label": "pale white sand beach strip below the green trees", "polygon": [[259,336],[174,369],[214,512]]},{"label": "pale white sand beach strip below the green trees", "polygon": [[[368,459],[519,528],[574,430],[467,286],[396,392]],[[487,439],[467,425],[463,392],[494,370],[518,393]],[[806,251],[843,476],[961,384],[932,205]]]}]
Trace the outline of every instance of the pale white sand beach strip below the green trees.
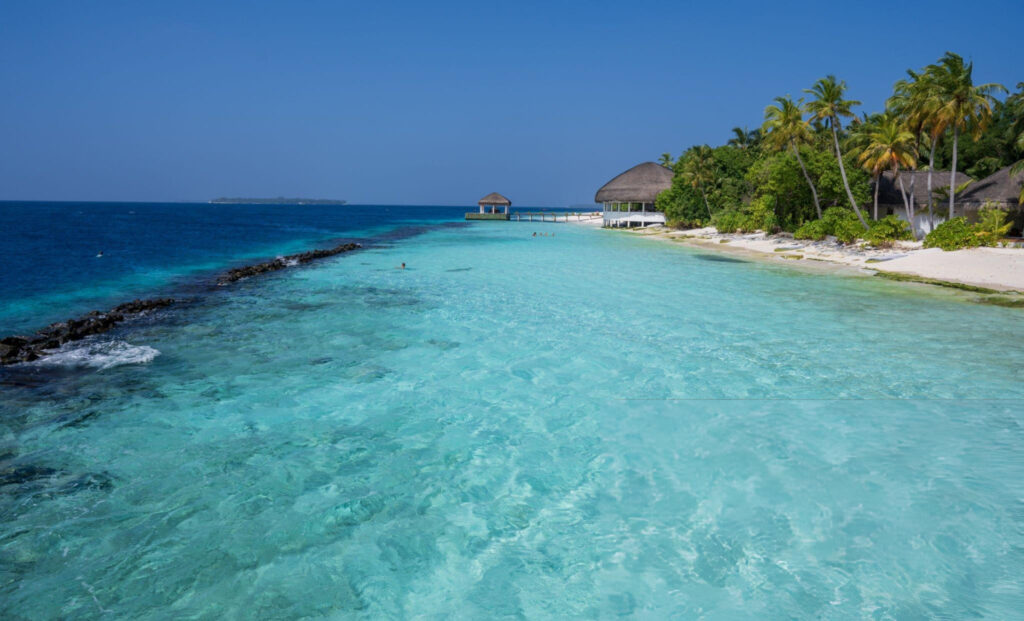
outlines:
[{"label": "pale white sand beach strip below the green trees", "polygon": [[720,234],[713,227],[677,231],[649,226],[624,231],[801,270],[881,275],[891,280],[998,294],[1010,300],[1021,295],[1020,301],[1024,303],[1024,249],[1021,248],[946,252],[937,248],[923,249],[920,242],[898,242],[893,248],[876,249],[828,241],[795,240],[784,234]]}]

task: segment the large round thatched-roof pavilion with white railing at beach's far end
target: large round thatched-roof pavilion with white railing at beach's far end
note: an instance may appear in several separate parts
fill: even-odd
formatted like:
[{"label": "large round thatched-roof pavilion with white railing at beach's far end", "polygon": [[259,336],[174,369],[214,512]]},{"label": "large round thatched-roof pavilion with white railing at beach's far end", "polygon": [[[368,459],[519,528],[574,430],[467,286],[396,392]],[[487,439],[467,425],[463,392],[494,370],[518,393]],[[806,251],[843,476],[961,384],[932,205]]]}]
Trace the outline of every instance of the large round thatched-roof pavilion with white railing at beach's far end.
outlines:
[{"label": "large round thatched-roof pavilion with white railing at beach's far end", "polygon": [[672,187],[672,169],[644,162],[620,174],[597,191],[605,226],[646,226],[664,224],[665,213],[654,207],[654,199]]}]

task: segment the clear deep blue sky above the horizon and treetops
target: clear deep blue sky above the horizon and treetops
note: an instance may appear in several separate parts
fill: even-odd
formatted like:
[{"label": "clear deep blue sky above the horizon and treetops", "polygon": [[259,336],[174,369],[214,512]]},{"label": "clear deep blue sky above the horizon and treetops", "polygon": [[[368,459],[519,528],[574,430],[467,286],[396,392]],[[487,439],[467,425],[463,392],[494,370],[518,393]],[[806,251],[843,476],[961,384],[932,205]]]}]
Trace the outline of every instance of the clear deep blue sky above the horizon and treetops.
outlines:
[{"label": "clear deep blue sky above the horizon and treetops", "polygon": [[863,6],[4,0],[0,199],[566,205],[827,73],[1024,81],[1020,0]]}]

